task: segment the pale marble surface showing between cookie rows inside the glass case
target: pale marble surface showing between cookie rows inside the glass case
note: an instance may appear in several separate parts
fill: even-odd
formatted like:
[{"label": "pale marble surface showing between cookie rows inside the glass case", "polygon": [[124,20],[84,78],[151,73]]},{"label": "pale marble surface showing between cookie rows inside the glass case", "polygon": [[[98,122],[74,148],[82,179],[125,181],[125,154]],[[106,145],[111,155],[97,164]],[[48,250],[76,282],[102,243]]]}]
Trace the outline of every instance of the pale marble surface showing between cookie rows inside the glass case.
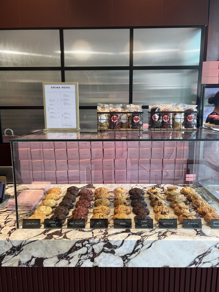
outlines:
[{"label": "pale marble surface showing between cookie rows inside the glass case", "polygon": [[[52,185],[51,187],[59,187],[62,189],[62,193],[60,194],[60,199],[57,200],[57,205],[55,207],[53,207],[52,209],[54,210],[58,204],[62,201],[62,197],[65,195],[66,193],[66,190],[67,188],[71,186],[71,185],[68,185],[68,184],[65,184],[65,185]],[[176,214],[174,214],[173,212],[173,209],[171,207],[169,207],[169,204],[170,202],[167,201],[166,199],[166,195],[164,194],[165,190],[167,189],[168,186],[172,186],[171,184],[161,184],[161,185],[155,185],[155,184],[93,184],[93,185],[82,185],[82,184],[78,184],[78,185],[75,185],[77,186],[78,188],[88,188],[90,190],[95,191],[96,188],[100,188],[100,187],[105,187],[105,188],[108,188],[109,190],[109,194],[110,194],[110,214],[108,215],[109,216],[109,224],[108,224],[108,228],[112,228],[113,229],[113,219],[112,219],[112,216],[114,215],[114,194],[113,194],[113,190],[115,188],[119,188],[119,187],[122,187],[122,188],[125,188],[126,190],[130,190],[131,188],[134,188],[134,187],[137,187],[137,188],[141,188],[145,191],[145,202],[147,203],[147,207],[148,209],[150,210],[150,214],[149,216],[153,219],[153,228],[156,229],[156,228],[159,228],[159,223],[155,220],[155,213],[154,213],[154,210],[153,210],[153,207],[150,205],[150,200],[149,200],[149,194],[147,194],[147,190],[149,188],[151,188],[152,186],[155,186],[157,188],[159,188],[161,190],[161,194],[164,196],[164,201],[167,205],[167,207],[169,208],[169,214],[173,217],[173,218],[178,218],[178,216]],[[189,187],[193,187],[195,188],[195,190],[197,191],[197,193],[199,193],[201,196],[202,196],[202,199],[207,201],[209,203],[210,206],[214,207],[215,210],[217,211],[217,213],[219,212],[219,203],[212,197],[211,193],[206,189],[204,188],[203,186],[201,185],[177,185],[178,186],[178,190],[180,191],[182,188],[184,188],[185,186],[189,186]],[[18,185],[17,186],[17,190],[18,192],[20,193],[22,190],[24,190],[25,188],[27,187],[27,185]],[[200,215],[197,213],[196,209],[193,208],[191,206],[191,202],[187,200],[186,196],[184,196],[183,194],[180,194],[180,197],[182,199],[184,199],[184,203],[187,205],[187,206],[190,206],[190,212],[193,213],[194,217],[196,219],[201,219],[201,222],[202,222],[202,229],[210,229],[211,226],[210,224],[204,220],[204,216]],[[76,202],[79,200],[79,196],[76,197]],[[87,222],[85,223],[85,229],[90,229],[90,219],[91,217],[93,216],[93,208],[95,207],[94,206],[94,201],[95,199],[93,199],[91,201],[91,207],[88,208],[89,209],[89,213],[87,215],[88,217],[88,220]],[[127,201],[129,203],[131,203],[131,200],[127,199]],[[71,218],[71,212],[75,209],[75,203],[74,202],[74,207],[73,209],[71,209],[69,211],[69,215],[67,216],[67,219],[70,219]],[[41,203],[41,201],[39,202],[39,204]],[[38,206],[39,206],[38,204]],[[131,204],[129,205],[129,207],[131,208],[132,210],[132,206]],[[37,208],[37,206],[34,208],[34,210]],[[20,211],[18,210],[18,213],[19,213],[19,228],[22,228],[22,221],[23,219],[26,219],[28,218],[29,216],[31,216],[33,213],[34,213],[34,210],[32,211]],[[50,218],[54,213],[51,213],[50,215],[46,216],[46,218]],[[136,216],[133,212],[131,212],[130,214],[128,214],[128,216],[132,219],[132,228],[135,228],[135,222],[134,222],[134,216]],[[43,224],[41,225],[41,229],[43,229],[44,226]],[[67,229],[67,220],[65,221],[64,224],[62,224],[62,228],[66,228]],[[181,224],[179,222],[179,220],[177,220],[177,228],[184,228],[183,227],[183,224]]]}]

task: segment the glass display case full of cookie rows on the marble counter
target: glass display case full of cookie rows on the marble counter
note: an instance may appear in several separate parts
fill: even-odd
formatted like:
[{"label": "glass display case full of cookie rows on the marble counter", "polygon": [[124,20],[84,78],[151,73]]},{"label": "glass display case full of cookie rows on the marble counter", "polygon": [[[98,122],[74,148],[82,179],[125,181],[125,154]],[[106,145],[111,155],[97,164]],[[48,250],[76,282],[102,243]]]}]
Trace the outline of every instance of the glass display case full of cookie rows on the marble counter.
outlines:
[{"label": "glass display case full of cookie rows on the marble counter", "polygon": [[[35,228],[217,228],[218,148],[219,134],[201,128],[101,133],[38,131],[11,140],[16,195],[15,201],[9,200],[8,208],[16,210],[18,228],[34,228],[35,219]],[[71,186],[76,187],[70,189],[74,196],[71,204],[61,203]],[[56,188],[53,196],[47,196],[51,193],[47,193],[49,188]],[[83,188],[93,192],[88,205],[78,203],[89,195],[80,196]],[[107,190],[98,192],[97,188]],[[115,188],[126,191],[113,193]],[[118,196],[119,192],[123,195]],[[101,201],[96,202],[98,199]],[[134,202],[136,199],[138,202]],[[69,213],[57,218],[55,210],[59,205],[67,207]],[[120,207],[115,208],[117,205]],[[43,207],[42,211],[39,206],[50,208]],[[83,210],[88,213],[83,213],[84,217],[72,215],[78,206],[86,207]],[[92,218],[95,207],[105,216]],[[43,216],[32,216],[39,210]],[[117,212],[120,215],[113,217]],[[59,224],[53,227],[51,222],[56,219]]]}]

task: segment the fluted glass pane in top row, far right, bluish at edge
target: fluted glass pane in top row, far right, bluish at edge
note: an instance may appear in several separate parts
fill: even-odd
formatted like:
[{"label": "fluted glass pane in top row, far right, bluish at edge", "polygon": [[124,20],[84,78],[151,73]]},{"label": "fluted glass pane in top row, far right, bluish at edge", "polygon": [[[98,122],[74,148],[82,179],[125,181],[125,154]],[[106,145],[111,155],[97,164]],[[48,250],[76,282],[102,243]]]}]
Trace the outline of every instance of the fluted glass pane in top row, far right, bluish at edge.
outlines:
[{"label": "fluted glass pane in top row, far right, bluish at edge", "polygon": [[198,65],[201,28],[134,29],[134,66]]}]

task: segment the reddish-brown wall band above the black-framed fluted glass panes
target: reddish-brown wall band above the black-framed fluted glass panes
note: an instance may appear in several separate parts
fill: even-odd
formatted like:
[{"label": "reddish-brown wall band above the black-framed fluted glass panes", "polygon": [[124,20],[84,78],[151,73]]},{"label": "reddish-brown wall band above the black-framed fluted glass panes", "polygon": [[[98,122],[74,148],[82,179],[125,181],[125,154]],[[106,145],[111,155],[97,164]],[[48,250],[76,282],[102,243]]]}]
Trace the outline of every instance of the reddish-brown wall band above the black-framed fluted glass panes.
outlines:
[{"label": "reddish-brown wall band above the black-framed fluted glass panes", "polygon": [[2,0],[0,28],[207,25],[207,18],[208,0]]}]

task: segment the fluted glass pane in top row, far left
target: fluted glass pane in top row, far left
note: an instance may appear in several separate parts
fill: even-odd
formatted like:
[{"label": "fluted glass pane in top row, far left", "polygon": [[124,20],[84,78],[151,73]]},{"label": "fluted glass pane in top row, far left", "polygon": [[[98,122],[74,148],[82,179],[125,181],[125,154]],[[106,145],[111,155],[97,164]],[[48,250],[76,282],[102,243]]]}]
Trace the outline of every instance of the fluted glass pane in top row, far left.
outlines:
[{"label": "fluted glass pane in top row, far left", "polygon": [[0,31],[0,67],[54,66],[61,66],[58,29]]}]

